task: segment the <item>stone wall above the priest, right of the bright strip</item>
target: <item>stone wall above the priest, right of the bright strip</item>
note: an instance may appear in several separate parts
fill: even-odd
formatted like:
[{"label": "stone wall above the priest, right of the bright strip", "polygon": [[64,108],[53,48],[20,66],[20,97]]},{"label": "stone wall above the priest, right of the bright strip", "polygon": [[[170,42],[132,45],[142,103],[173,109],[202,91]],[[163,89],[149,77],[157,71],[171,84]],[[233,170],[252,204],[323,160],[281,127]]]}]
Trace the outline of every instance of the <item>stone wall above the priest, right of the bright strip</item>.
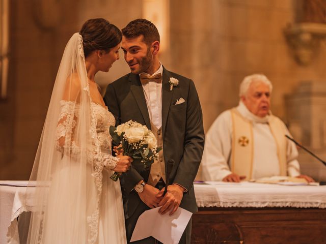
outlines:
[{"label": "stone wall above the priest, right of the bright strip", "polygon": [[[284,96],[302,80],[323,82],[326,49],[309,66],[298,65],[283,34],[295,19],[291,0],[171,1],[171,60],[199,92],[204,127],[238,103],[243,77],[265,74],[273,83],[271,109],[286,120]],[[287,122],[287,121],[286,121]]]}]

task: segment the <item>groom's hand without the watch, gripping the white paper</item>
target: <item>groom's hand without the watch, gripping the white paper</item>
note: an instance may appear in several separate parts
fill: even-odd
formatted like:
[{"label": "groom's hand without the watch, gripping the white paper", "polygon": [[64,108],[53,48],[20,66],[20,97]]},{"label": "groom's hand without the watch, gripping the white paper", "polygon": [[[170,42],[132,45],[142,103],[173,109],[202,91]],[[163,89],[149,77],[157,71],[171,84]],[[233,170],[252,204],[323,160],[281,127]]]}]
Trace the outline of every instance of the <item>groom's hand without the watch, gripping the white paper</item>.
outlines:
[{"label": "groom's hand without the watch, gripping the white paper", "polygon": [[[170,215],[173,215],[181,203],[183,192],[184,192],[183,187],[177,184],[169,185],[167,193],[158,204],[158,206],[162,206],[158,210],[158,212],[164,215],[166,212],[170,211]],[[164,193],[164,188],[156,195],[156,197],[161,198],[163,196],[163,193]]]}]

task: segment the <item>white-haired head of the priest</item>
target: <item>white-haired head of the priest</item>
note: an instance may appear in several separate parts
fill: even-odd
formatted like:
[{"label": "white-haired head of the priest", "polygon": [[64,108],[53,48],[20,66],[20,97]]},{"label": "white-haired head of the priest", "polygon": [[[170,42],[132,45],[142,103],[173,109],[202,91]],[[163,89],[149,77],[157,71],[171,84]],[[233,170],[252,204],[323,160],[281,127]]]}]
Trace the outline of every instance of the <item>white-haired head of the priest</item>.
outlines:
[{"label": "white-haired head of the priest", "polygon": [[269,113],[272,89],[273,85],[266,76],[253,74],[242,80],[239,97],[250,112],[258,117],[265,117]]}]

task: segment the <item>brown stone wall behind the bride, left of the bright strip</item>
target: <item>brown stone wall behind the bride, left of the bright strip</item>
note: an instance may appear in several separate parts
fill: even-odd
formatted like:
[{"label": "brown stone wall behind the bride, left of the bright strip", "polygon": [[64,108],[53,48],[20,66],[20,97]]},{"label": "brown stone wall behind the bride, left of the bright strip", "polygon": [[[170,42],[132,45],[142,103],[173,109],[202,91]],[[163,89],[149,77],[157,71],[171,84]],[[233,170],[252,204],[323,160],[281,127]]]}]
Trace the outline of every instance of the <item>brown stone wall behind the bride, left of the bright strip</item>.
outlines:
[{"label": "brown stone wall behind the bride, left of the bright strip", "polygon": [[[29,178],[62,53],[72,34],[95,17],[122,28],[141,17],[141,3],[10,1],[8,99],[0,101],[0,179]],[[107,84],[127,73],[121,57],[112,72],[96,79]]]}]

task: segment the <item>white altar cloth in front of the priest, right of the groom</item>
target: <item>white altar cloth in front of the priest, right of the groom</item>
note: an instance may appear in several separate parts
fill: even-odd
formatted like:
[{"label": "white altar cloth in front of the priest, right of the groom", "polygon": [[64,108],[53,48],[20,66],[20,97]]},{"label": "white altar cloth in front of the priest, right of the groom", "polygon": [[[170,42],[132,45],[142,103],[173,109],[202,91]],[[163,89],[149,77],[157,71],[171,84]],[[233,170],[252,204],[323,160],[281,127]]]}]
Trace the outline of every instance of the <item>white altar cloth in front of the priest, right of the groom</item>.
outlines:
[{"label": "white altar cloth in front of the priest, right of the groom", "polygon": [[282,186],[243,181],[195,184],[199,207],[326,208],[326,186]]}]

